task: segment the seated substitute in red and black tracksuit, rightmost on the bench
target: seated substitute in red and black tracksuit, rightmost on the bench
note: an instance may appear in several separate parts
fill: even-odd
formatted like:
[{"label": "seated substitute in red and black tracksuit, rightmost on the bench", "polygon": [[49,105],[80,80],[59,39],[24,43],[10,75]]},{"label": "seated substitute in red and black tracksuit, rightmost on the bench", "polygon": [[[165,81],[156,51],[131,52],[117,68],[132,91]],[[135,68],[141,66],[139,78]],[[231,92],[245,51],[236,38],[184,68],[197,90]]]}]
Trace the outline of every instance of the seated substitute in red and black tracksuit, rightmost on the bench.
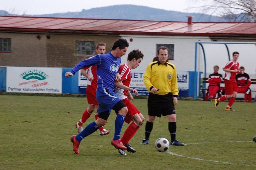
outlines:
[{"label": "seated substitute in red and black tracksuit, rightmost on the bench", "polygon": [[239,68],[240,74],[236,74],[236,82],[238,85],[237,93],[244,93],[244,102],[252,102],[252,92],[250,85],[252,84],[251,79],[247,73],[244,73],[244,67]]}]

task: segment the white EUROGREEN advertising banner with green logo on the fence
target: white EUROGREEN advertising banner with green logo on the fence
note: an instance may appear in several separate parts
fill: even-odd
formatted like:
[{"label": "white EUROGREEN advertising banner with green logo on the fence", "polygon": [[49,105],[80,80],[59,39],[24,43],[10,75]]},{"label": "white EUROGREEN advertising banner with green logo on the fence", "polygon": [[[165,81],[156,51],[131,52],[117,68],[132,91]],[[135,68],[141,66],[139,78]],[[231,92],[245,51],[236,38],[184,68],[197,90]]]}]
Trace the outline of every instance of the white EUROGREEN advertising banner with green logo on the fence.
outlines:
[{"label": "white EUROGREEN advertising banner with green logo on the fence", "polygon": [[6,92],[62,93],[62,69],[7,67]]}]

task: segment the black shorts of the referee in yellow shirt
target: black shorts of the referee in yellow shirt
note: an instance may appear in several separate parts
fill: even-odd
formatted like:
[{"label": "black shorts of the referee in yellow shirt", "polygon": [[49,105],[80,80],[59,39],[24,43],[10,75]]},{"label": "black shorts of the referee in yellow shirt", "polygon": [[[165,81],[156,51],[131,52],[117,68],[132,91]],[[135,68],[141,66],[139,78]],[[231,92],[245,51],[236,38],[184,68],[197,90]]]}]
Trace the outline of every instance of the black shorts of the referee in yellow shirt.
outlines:
[{"label": "black shorts of the referee in yellow shirt", "polygon": [[149,93],[148,96],[148,115],[161,117],[175,114],[172,93],[166,95],[157,95]]}]

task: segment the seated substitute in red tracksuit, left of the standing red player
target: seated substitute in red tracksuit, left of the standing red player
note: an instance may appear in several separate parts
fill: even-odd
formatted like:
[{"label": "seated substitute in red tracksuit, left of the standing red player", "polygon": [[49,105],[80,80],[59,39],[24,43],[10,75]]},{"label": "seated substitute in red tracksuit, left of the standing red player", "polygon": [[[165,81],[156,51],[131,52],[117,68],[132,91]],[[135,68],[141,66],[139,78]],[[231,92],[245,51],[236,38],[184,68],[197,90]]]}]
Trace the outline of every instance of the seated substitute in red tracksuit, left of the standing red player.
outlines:
[{"label": "seated substitute in red tracksuit, left of the standing red player", "polygon": [[205,93],[204,101],[213,100],[218,98],[220,95],[220,83],[222,81],[222,75],[218,73],[219,66],[213,67],[213,73],[209,75],[208,78],[208,89],[207,93]]}]

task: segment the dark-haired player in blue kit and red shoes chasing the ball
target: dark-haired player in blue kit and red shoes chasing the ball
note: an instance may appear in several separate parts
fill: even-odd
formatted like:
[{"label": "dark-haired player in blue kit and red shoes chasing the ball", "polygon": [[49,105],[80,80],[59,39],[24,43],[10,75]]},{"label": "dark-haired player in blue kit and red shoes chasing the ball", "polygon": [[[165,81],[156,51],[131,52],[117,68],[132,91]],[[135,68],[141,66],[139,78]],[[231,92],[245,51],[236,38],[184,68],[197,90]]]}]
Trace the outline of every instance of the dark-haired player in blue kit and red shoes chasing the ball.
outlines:
[{"label": "dark-haired player in blue kit and red shoes chasing the ball", "polygon": [[117,149],[127,149],[120,139],[120,132],[128,109],[124,102],[113,91],[115,88],[116,74],[118,73],[121,63],[121,57],[125,55],[128,46],[129,43],[125,39],[118,38],[108,54],[98,54],[92,58],[85,59],[77,63],[76,66],[72,68],[71,72],[65,73],[66,77],[70,77],[84,67],[97,66],[98,87],[96,98],[99,103],[99,117],[96,121],[88,124],[81,133],[70,137],[70,140],[73,143],[73,151],[76,154],[79,154],[78,147],[84,137],[92,134],[99,127],[102,127],[107,123],[111,109],[118,112],[115,120],[115,134],[111,144]]}]

